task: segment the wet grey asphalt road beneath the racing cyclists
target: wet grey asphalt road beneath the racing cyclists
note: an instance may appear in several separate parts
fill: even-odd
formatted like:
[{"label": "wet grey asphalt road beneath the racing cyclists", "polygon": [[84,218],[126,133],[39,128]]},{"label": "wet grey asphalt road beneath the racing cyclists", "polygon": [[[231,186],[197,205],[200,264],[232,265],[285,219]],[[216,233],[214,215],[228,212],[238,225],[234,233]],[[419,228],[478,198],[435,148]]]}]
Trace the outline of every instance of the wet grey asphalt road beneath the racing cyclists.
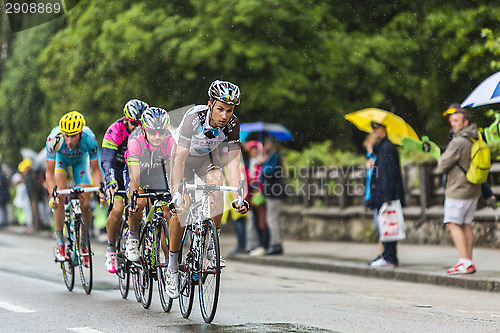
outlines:
[{"label": "wet grey asphalt road beneath the racing cyclists", "polygon": [[177,301],[163,312],[156,289],[149,310],[122,299],[97,242],[92,294],[78,277],[68,292],[53,244],[0,232],[1,332],[493,332],[500,323],[495,293],[228,261],[207,325],[197,300],[184,319]]}]

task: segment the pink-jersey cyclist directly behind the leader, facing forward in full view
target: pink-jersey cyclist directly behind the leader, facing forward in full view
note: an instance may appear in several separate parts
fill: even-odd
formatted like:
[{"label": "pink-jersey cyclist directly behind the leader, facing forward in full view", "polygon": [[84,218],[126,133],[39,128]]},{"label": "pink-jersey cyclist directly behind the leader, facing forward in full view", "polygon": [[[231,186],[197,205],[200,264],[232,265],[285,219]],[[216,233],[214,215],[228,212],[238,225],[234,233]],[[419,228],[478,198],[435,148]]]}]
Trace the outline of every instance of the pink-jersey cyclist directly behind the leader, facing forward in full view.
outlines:
[{"label": "pink-jersey cyclist directly behind the leader, facing forward in full view", "polygon": [[[127,145],[126,160],[129,176],[126,177],[126,186],[129,195],[134,190],[139,193],[170,192],[168,170],[174,140],[167,129],[169,123],[170,117],[161,108],[149,107],[142,114],[142,128],[136,129],[131,134]],[[146,199],[138,199],[136,206],[131,207],[133,211],[129,215],[130,237],[125,252],[131,261],[139,260],[139,225],[146,204]],[[180,223],[177,215],[171,215],[168,206],[163,207],[163,215],[168,222],[170,235],[178,233]],[[162,239],[162,247],[167,256],[165,238]]]}]

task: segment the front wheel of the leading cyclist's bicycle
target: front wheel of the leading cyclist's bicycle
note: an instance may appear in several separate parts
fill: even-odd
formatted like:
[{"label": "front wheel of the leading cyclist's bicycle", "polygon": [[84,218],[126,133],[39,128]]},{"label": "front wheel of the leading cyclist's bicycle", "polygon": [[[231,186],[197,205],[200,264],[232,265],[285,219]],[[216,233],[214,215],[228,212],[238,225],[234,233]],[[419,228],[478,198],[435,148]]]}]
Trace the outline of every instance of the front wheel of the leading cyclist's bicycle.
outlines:
[{"label": "front wheel of the leading cyclist's bicycle", "polygon": [[210,219],[203,222],[201,243],[200,278],[198,279],[200,308],[203,320],[210,323],[217,311],[221,273],[219,237],[215,223]]}]

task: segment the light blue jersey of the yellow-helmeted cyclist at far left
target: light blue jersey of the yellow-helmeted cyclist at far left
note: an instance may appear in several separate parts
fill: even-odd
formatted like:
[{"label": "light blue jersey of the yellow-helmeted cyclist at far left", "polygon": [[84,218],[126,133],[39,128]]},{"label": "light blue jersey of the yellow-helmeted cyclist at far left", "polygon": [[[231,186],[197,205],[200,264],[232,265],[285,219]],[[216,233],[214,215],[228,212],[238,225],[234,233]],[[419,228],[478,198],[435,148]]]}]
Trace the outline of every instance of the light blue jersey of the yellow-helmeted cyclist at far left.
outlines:
[{"label": "light blue jersey of the yellow-helmeted cyclist at far left", "polygon": [[45,144],[47,151],[47,159],[55,160],[56,155],[64,157],[68,162],[70,161],[80,161],[82,158],[87,156],[91,160],[98,158],[97,151],[99,145],[97,144],[97,139],[94,132],[87,126],[83,127],[82,138],[75,148],[69,149],[64,142],[64,136],[61,133],[61,128],[59,126],[54,127],[47,137],[47,142]]}]

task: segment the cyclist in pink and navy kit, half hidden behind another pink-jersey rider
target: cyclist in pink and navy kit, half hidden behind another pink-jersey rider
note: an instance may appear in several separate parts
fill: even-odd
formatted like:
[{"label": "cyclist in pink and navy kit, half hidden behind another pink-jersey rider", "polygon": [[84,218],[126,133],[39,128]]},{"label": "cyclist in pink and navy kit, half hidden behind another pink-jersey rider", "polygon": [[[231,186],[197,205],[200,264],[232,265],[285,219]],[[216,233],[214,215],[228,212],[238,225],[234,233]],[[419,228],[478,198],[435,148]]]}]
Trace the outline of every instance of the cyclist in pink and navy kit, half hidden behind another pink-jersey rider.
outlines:
[{"label": "cyclist in pink and navy kit, half hidden behind another pink-jersey rider", "polygon": [[[129,135],[141,125],[142,112],[149,105],[143,101],[132,99],[123,108],[124,116],[109,126],[102,140],[101,167],[104,171],[106,196],[111,198],[117,190],[125,190],[123,170],[125,169],[125,153]],[[115,196],[113,209],[108,215],[106,231],[108,234],[108,251],[106,253],[106,269],[116,273],[116,238],[120,229],[123,214],[123,197]]]}]

